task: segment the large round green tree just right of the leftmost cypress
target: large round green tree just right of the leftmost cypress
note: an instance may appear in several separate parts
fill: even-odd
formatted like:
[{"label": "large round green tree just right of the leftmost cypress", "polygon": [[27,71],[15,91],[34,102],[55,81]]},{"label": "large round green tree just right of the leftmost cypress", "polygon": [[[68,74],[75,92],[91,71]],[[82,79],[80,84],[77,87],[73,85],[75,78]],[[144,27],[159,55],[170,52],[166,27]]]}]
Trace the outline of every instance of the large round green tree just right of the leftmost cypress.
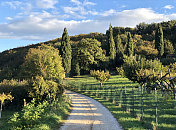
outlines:
[{"label": "large round green tree just right of the leftmost cypress", "polygon": [[105,60],[101,42],[96,39],[82,39],[77,47],[77,59],[83,71],[89,71],[92,67],[100,67],[100,63]]}]

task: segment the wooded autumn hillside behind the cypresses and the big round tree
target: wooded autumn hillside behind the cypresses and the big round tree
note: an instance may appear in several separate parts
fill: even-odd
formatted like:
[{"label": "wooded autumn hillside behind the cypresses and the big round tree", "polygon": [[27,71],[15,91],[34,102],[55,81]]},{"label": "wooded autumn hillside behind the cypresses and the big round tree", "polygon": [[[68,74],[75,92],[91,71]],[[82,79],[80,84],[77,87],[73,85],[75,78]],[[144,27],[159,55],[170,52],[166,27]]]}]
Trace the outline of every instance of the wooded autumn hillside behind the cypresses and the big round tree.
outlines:
[{"label": "wooded autumn hillside behind the cypresses and the big round tree", "polygon": [[[162,57],[165,58],[166,55],[170,53],[173,54],[174,48],[176,49],[176,37],[175,37],[176,20],[162,22],[160,24],[163,28],[164,34],[163,37],[165,43],[169,43],[167,44],[168,46],[165,47],[166,50],[165,52],[167,53],[165,53],[164,56]],[[158,25],[157,23],[152,24],[140,23],[135,28],[113,27],[113,38],[115,43],[117,43],[117,36],[119,35],[121,38],[121,42],[123,44],[123,49],[125,50],[126,43],[128,40],[127,32],[130,32],[134,42],[135,54],[143,55],[149,59],[156,58],[158,57],[157,51],[155,49],[155,32],[157,30],[157,25]],[[80,34],[76,36],[70,36],[70,43],[72,45],[73,50],[72,55],[74,55],[74,50],[75,48],[77,48],[77,44],[81,41],[81,39],[91,38],[97,39],[99,42],[101,42],[101,48],[103,50],[103,53],[108,57],[109,56],[108,37],[109,37],[109,30],[106,31],[106,34],[90,33],[90,34]],[[55,48],[60,49],[61,38],[56,38],[50,41],[46,41],[44,43],[33,44],[26,47],[14,48],[0,53],[0,81],[3,79],[18,78],[20,66],[23,64],[24,57],[27,54],[28,50],[30,48],[40,46],[41,44],[51,45],[54,46]],[[170,46],[172,46],[171,49],[169,48]],[[167,49],[170,49],[171,51]],[[106,62],[107,60],[103,61],[103,63],[105,64]]]}]

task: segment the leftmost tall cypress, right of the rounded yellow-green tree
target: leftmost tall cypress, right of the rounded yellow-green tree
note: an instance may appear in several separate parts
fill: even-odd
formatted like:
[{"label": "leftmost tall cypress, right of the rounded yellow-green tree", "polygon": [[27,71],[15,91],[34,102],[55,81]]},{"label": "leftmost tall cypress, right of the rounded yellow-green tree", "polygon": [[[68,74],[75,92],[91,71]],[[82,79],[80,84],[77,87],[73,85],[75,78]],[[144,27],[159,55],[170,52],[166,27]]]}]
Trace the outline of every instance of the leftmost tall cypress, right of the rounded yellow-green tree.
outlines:
[{"label": "leftmost tall cypress, right of the rounded yellow-green tree", "polygon": [[72,48],[69,41],[70,41],[70,38],[68,36],[67,29],[64,28],[64,32],[62,34],[62,41],[61,41],[61,55],[62,55],[63,66],[66,73],[69,73],[71,70]]}]

